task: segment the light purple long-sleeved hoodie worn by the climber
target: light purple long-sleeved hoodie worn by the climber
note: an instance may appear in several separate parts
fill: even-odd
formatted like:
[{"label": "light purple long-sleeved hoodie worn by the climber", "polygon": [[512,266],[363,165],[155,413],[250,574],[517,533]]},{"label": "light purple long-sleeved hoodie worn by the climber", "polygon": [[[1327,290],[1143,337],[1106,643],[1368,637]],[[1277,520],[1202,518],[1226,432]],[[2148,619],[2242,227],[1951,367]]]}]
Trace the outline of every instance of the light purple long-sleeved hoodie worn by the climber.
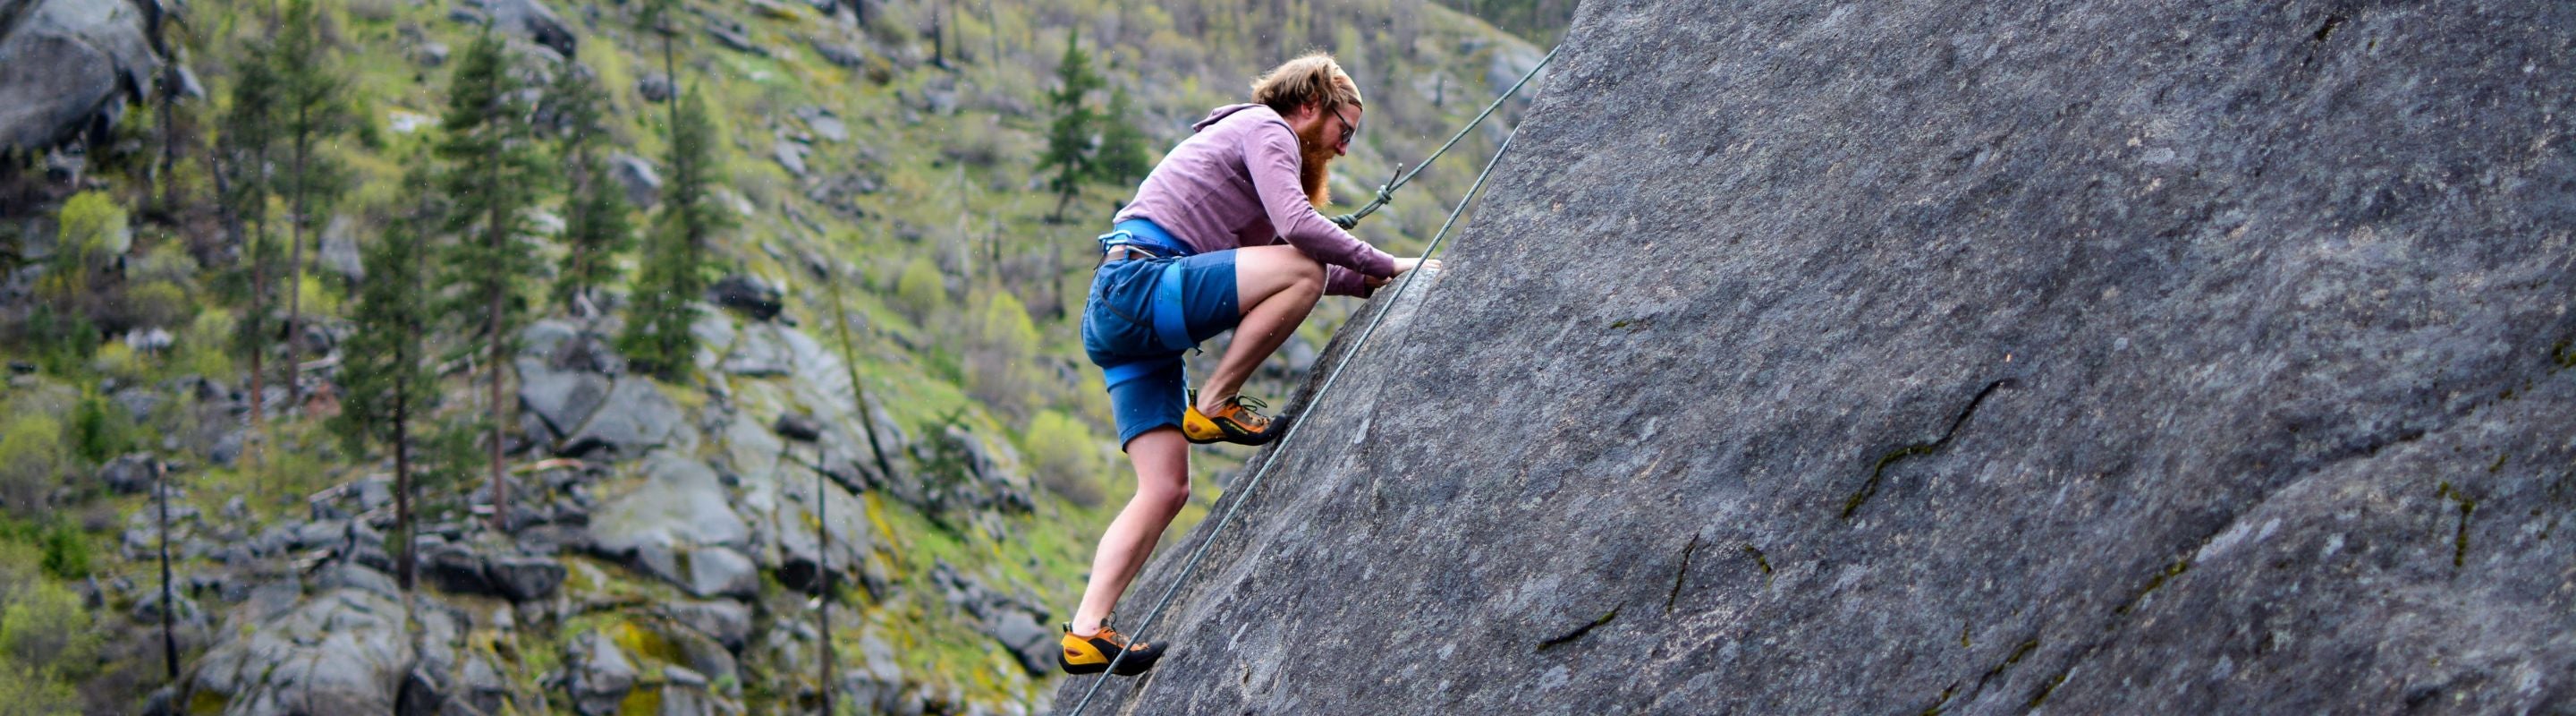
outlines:
[{"label": "light purple long-sleeved hoodie worn by the climber", "polygon": [[1306,203],[1296,131],[1267,106],[1221,106],[1190,126],[1115,221],[1154,219],[1198,252],[1293,245],[1324,263],[1324,294],[1368,296],[1365,276],[1396,258],[1342,232]]}]

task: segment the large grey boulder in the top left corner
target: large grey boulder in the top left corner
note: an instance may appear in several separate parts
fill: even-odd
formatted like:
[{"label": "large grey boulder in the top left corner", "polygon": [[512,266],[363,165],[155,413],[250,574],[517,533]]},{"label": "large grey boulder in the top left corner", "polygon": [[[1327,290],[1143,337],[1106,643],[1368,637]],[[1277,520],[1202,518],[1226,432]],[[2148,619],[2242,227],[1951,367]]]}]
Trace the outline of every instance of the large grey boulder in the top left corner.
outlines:
[{"label": "large grey boulder in the top left corner", "polygon": [[126,0],[0,5],[0,155],[106,139],[129,100],[152,93],[160,57]]}]

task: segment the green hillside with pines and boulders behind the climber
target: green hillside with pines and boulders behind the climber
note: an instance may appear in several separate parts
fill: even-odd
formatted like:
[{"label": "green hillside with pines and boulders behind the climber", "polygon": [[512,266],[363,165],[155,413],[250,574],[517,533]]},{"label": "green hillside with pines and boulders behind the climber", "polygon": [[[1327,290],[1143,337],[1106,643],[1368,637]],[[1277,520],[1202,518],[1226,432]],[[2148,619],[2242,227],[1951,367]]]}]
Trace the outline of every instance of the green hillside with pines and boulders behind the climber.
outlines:
[{"label": "green hillside with pines and boulders behind the climber", "polygon": [[1043,711],[1133,489],[1092,234],[1303,49],[1370,100],[1345,206],[1543,54],[1419,0],[0,0],[0,713]]}]

